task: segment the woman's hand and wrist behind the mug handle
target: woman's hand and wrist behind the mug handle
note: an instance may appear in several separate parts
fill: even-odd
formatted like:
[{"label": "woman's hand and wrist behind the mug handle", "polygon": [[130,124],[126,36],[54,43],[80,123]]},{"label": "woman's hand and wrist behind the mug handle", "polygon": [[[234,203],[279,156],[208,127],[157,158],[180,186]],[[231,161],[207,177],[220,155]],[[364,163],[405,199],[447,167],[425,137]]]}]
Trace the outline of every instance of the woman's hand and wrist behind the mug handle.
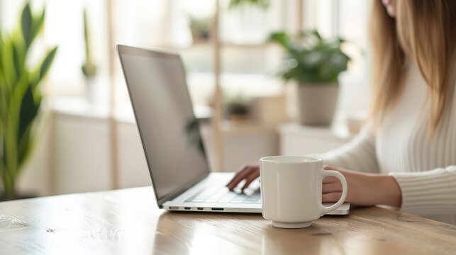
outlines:
[{"label": "woman's hand and wrist behind the mug handle", "polygon": [[[339,171],[347,180],[348,192],[346,202],[354,205],[392,205],[401,207],[401,189],[393,176],[384,174],[363,174],[356,171],[325,166],[325,170]],[[342,184],[335,177],[323,180],[322,201],[337,202],[342,195]]]}]

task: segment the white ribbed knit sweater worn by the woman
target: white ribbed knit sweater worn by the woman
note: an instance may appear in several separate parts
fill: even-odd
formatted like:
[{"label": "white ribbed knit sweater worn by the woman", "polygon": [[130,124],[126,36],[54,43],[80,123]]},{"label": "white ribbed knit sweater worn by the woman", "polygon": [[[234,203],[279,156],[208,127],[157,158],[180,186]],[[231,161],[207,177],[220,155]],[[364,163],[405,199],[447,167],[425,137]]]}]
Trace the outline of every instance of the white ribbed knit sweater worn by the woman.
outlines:
[{"label": "white ribbed knit sweater worn by the woman", "polygon": [[404,94],[375,135],[366,128],[347,145],[321,157],[325,164],[345,169],[391,174],[401,188],[401,210],[455,224],[455,92],[431,139],[426,82],[416,64],[411,64]]}]

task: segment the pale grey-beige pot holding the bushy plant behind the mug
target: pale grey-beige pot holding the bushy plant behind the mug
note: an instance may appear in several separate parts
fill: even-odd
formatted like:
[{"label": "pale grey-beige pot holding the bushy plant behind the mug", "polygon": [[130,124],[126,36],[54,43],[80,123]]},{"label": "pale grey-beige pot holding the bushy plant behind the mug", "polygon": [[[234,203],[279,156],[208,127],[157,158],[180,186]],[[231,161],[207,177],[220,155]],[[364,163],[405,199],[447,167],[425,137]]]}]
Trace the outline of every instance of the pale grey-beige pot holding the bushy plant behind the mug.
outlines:
[{"label": "pale grey-beige pot holding the bushy plant behind the mug", "polygon": [[299,84],[298,121],[301,125],[330,125],[338,103],[338,84]]}]

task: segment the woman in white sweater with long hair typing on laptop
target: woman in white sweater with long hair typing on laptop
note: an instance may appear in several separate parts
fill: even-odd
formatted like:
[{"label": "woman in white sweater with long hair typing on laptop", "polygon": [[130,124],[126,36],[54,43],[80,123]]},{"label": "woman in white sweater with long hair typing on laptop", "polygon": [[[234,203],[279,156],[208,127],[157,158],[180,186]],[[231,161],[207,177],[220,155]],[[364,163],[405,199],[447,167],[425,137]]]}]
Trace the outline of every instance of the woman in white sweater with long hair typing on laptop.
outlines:
[{"label": "woman in white sweater with long hair typing on laptop", "polygon": [[[455,224],[456,1],[372,5],[369,121],[352,142],[321,155],[325,169],[345,176],[354,205],[392,205]],[[248,164],[227,186],[258,176],[258,164]],[[323,202],[337,201],[341,190],[325,179]]]}]

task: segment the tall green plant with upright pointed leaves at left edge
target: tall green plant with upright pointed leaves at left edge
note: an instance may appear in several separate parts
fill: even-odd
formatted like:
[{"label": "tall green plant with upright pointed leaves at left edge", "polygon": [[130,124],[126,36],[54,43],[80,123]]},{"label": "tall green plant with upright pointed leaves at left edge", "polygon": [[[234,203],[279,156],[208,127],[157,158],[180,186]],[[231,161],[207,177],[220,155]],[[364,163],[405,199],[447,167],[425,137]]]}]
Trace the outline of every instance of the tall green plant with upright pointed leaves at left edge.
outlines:
[{"label": "tall green plant with upright pointed leaves at left edge", "polygon": [[21,21],[12,33],[0,29],[0,176],[2,200],[17,198],[16,181],[33,148],[35,122],[43,94],[40,84],[54,60],[57,47],[45,52],[43,60],[30,67],[30,47],[40,34],[45,11],[33,14],[24,6]]}]

